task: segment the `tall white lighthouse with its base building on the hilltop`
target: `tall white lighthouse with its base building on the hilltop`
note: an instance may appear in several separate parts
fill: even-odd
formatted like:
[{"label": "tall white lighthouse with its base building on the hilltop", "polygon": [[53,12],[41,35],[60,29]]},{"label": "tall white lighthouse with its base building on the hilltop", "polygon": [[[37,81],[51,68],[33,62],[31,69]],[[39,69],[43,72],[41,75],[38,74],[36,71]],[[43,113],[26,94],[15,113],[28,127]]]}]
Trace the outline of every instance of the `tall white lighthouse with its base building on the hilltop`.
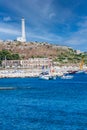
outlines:
[{"label": "tall white lighthouse with its base building on the hilltop", "polygon": [[22,18],[22,36],[17,38],[17,41],[26,42],[26,35],[25,35],[25,19]]}]

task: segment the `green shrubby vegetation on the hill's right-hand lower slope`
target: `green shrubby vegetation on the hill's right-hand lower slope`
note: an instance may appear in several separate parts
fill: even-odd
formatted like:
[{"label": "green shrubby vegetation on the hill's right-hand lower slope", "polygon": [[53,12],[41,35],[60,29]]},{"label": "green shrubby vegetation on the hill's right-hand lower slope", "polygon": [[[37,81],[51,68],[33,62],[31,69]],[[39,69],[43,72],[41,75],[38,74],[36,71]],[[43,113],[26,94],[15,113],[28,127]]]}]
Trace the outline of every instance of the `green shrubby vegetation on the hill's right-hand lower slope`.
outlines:
[{"label": "green shrubby vegetation on the hill's right-hand lower slope", "polygon": [[54,61],[60,64],[78,64],[82,59],[84,59],[84,63],[87,64],[87,53],[77,54],[76,50],[68,48],[68,51],[58,52]]}]

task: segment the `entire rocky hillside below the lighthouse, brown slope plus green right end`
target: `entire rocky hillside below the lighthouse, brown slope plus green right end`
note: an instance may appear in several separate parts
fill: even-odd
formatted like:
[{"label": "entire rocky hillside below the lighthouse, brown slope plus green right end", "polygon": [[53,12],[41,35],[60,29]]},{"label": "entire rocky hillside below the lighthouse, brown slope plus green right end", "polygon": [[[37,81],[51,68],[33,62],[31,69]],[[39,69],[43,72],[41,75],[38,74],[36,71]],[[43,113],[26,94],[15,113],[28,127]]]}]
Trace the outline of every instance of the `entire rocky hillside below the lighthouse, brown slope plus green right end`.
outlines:
[{"label": "entire rocky hillside below the lighthouse, brown slope plus green right end", "polygon": [[48,57],[52,58],[54,62],[61,64],[76,64],[84,57],[84,62],[87,64],[87,53],[77,53],[76,50],[66,46],[59,46],[48,43],[28,42],[20,43],[14,42],[1,42],[0,51],[8,50],[11,53],[18,53],[20,59]]}]

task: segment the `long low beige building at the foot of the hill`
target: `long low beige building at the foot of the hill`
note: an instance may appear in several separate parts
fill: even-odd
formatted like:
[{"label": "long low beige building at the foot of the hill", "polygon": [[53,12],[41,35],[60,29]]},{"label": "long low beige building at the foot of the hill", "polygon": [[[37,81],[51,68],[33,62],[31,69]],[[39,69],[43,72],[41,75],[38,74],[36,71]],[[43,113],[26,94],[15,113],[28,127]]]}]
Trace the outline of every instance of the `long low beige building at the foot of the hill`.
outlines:
[{"label": "long low beige building at the foot of the hill", "polygon": [[9,68],[41,68],[52,65],[52,59],[49,58],[29,58],[28,60],[4,60],[2,67]]}]

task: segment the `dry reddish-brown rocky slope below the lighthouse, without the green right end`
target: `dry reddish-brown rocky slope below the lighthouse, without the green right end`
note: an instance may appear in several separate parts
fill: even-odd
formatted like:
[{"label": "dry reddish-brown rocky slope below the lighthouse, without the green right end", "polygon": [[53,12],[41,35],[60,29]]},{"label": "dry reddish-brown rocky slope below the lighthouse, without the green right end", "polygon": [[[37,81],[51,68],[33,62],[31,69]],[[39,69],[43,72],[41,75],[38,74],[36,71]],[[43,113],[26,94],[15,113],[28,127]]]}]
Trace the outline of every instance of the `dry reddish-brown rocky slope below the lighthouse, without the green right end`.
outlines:
[{"label": "dry reddish-brown rocky slope below the lighthouse, without the green right end", "polygon": [[55,46],[48,43],[20,43],[20,42],[1,42],[1,50],[9,50],[13,53],[19,53],[21,58],[29,57],[51,57],[54,58],[62,52],[68,51],[68,47]]}]

